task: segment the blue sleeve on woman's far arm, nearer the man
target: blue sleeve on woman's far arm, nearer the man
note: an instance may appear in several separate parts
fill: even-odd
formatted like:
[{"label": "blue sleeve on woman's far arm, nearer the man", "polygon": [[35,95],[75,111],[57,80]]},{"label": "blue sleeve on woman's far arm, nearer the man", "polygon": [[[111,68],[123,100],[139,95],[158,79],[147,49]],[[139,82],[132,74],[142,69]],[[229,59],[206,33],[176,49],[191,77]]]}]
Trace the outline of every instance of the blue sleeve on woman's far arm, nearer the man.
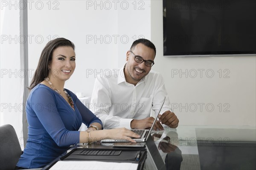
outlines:
[{"label": "blue sleeve on woman's far arm, nearer the man", "polygon": [[102,125],[102,121],[96,115],[94,115],[93,112],[90,111],[90,109],[84,106],[84,104],[77,98],[77,96],[73,92],[69,92],[71,94],[71,97],[73,98],[74,103],[76,104],[76,107],[79,109],[83,123],[87,127],[89,127],[92,123],[99,123]]}]

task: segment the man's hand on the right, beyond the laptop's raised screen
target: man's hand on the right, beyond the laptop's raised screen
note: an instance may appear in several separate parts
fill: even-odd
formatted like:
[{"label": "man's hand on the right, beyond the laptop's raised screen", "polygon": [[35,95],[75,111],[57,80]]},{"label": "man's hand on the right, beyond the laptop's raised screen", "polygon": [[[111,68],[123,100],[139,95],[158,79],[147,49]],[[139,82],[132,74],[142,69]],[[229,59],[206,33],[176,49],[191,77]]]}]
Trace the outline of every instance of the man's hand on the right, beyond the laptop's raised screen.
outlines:
[{"label": "man's hand on the right, beyond the laptop's raised screen", "polygon": [[159,115],[158,118],[162,124],[166,124],[171,128],[176,128],[179,124],[179,119],[174,112],[171,112],[170,110],[164,112],[163,115]]}]

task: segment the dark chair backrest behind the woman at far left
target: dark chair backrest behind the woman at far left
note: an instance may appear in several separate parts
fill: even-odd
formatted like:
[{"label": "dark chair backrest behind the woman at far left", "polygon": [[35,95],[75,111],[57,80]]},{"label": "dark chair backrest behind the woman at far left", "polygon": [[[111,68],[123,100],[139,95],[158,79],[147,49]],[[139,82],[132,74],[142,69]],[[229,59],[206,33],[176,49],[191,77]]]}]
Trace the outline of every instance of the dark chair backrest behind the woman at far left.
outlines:
[{"label": "dark chair backrest behind the woman at far left", "polygon": [[0,127],[0,170],[14,170],[22,154],[15,129],[10,124]]}]

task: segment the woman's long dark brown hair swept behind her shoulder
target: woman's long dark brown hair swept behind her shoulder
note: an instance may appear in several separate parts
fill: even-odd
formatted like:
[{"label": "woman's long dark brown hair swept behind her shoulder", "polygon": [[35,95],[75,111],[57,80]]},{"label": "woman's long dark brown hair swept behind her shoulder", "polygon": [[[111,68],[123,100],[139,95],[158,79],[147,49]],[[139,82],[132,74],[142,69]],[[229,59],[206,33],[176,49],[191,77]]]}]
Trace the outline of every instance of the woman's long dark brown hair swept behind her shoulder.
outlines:
[{"label": "woman's long dark brown hair swept behind her shoulder", "polygon": [[41,53],[38,66],[35,70],[35,75],[31,81],[30,86],[28,87],[29,90],[33,89],[36,85],[44,81],[44,78],[48,76],[48,65],[52,61],[52,53],[59,46],[70,46],[73,48],[73,50],[75,50],[75,45],[70,40],[65,38],[56,38],[49,41]]}]

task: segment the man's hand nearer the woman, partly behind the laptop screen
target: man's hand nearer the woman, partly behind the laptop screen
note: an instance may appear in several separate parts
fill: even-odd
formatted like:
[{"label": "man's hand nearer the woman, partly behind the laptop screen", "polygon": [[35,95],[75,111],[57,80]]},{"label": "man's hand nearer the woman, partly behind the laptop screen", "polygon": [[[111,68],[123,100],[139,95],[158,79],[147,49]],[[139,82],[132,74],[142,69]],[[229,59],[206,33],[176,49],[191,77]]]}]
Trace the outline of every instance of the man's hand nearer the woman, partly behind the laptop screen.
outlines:
[{"label": "man's hand nearer the woman, partly behind the laptop screen", "polygon": [[[150,117],[150,118],[144,118],[141,120],[132,120],[131,121],[131,128],[132,129],[147,129],[147,128],[151,128],[152,124],[154,122],[154,118]],[[156,123],[154,124],[154,130],[164,130],[163,126],[160,124],[159,121],[156,121]]]}]

